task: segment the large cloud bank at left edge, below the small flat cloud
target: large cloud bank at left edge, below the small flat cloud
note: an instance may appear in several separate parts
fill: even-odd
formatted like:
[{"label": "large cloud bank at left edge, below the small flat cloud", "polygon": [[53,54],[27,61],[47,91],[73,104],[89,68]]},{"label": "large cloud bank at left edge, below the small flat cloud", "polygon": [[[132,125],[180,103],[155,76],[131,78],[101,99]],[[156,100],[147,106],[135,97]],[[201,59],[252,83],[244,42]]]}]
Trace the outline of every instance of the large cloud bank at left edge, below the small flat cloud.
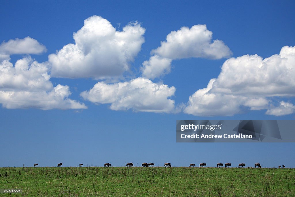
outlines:
[{"label": "large cloud bank at left edge, below the small flat cloud", "polygon": [[38,63],[30,56],[15,66],[8,60],[0,63],[0,103],[9,109],[39,108],[49,110],[85,109],[83,103],[68,98],[68,86],[53,87],[49,81],[48,63]]}]

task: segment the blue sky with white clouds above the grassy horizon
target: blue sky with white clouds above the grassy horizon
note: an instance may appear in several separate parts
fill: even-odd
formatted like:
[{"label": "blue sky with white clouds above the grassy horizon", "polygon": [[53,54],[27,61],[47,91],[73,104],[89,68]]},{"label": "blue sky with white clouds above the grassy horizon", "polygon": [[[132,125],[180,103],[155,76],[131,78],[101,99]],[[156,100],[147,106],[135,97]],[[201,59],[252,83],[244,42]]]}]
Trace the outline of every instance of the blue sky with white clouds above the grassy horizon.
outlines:
[{"label": "blue sky with white clouds above the grassy horizon", "polygon": [[294,143],[175,135],[176,120],[294,120],[294,8],[1,1],[0,166],[295,167]]}]

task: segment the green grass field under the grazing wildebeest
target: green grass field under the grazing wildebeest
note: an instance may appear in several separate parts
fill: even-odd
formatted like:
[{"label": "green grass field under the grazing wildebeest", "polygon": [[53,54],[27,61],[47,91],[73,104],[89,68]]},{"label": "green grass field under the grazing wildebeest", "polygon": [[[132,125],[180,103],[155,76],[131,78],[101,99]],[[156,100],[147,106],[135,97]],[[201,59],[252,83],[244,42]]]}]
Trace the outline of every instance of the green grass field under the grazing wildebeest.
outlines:
[{"label": "green grass field under the grazing wildebeest", "polygon": [[295,169],[0,168],[0,189],[16,188],[12,196],[295,196]]}]

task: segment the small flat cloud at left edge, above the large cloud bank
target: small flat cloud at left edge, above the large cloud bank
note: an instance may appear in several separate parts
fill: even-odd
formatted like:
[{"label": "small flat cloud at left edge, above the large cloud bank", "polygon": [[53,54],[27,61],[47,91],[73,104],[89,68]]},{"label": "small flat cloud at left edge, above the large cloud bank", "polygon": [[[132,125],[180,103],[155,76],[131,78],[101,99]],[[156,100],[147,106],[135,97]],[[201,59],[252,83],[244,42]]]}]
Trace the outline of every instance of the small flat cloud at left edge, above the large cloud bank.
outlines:
[{"label": "small flat cloud at left edge, above the large cloud bank", "polygon": [[46,47],[29,36],[24,39],[16,38],[0,45],[0,60],[9,59],[12,54],[40,54]]}]

